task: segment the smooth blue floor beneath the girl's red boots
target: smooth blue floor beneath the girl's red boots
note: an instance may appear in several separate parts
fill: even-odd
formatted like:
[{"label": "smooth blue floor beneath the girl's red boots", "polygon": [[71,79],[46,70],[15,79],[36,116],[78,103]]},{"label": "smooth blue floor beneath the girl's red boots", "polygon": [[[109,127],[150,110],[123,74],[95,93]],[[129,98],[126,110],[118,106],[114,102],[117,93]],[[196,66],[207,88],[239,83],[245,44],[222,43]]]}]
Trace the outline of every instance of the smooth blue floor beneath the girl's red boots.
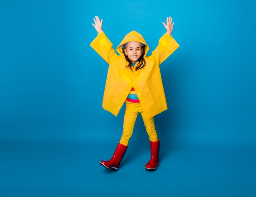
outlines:
[{"label": "smooth blue floor beneath the girl's red boots", "polygon": [[132,146],[113,172],[99,162],[110,159],[116,145],[1,142],[0,196],[256,196],[255,149],[160,148],[159,168],[149,172],[149,146]]}]

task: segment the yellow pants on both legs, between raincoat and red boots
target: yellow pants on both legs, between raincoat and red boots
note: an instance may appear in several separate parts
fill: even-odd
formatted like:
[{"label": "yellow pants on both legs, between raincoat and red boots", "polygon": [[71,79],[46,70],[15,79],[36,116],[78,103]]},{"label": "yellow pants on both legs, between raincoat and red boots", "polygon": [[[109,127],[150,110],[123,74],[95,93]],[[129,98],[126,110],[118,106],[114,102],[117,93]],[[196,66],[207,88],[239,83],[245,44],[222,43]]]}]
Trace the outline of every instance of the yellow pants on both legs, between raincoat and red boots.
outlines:
[{"label": "yellow pants on both legs, between raincoat and red boots", "polygon": [[155,131],[155,122],[154,117],[146,117],[144,108],[141,106],[141,103],[132,103],[126,100],[126,110],[124,113],[124,130],[123,135],[120,140],[120,144],[125,146],[128,145],[129,139],[132,136],[133,128],[138,113],[141,113],[146,131],[149,136],[149,140],[152,142],[157,142],[157,132]]}]

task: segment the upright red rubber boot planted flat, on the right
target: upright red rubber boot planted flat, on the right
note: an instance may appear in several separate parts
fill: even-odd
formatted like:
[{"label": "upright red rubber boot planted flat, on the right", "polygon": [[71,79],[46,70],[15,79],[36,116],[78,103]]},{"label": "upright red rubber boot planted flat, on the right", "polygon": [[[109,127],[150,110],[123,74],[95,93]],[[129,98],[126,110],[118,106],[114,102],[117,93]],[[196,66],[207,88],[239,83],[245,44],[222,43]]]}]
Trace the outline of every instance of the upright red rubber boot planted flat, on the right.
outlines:
[{"label": "upright red rubber boot planted flat, on the right", "polygon": [[146,170],[156,170],[157,166],[160,164],[159,161],[159,148],[160,148],[160,139],[157,142],[150,142],[150,151],[151,151],[151,158],[149,162],[146,164]]}]

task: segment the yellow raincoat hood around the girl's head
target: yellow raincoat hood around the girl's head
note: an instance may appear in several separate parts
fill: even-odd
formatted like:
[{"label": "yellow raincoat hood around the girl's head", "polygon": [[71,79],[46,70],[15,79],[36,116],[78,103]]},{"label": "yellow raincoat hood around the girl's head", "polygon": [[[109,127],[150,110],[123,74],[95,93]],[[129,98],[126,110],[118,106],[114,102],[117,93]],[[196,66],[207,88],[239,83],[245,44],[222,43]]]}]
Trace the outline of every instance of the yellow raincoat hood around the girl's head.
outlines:
[{"label": "yellow raincoat hood around the girl's head", "polygon": [[142,37],[142,35],[139,34],[137,31],[131,31],[124,37],[122,42],[117,46],[117,53],[124,56],[121,45],[123,45],[127,42],[130,42],[130,41],[137,41],[137,42],[140,42],[141,44],[145,45],[145,55],[144,55],[144,57],[145,57],[149,50],[149,47],[148,47],[148,44],[146,43],[146,41],[144,40],[144,38]]}]

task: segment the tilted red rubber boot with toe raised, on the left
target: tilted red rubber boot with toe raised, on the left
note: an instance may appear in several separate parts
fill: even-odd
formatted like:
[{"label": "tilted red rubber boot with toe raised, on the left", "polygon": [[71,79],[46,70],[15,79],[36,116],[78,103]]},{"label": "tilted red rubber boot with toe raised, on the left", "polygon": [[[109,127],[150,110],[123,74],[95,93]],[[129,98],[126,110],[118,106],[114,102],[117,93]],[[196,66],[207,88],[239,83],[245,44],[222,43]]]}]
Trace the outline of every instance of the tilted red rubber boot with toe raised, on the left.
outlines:
[{"label": "tilted red rubber boot with toe raised, on the left", "polygon": [[108,161],[101,161],[99,164],[105,168],[117,171],[119,169],[120,162],[126,153],[127,147],[128,146],[119,143],[113,157]]}]

